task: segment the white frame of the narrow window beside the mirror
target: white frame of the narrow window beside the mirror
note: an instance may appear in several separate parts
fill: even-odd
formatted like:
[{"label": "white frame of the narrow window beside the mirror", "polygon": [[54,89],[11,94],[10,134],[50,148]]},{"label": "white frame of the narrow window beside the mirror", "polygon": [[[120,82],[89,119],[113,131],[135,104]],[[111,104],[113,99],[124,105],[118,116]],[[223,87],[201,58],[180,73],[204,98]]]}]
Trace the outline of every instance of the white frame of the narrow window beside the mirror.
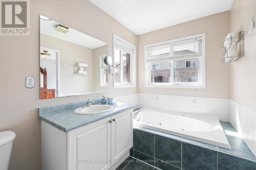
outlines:
[{"label": "white frame of the narrow window beside the mirror", "polygon": [[[124,44],[134,48],[134,54],[131,54],[130,52],[119,49],[121,55],[123,54],[123,52],[130,54],[130,81],[131,82],[129,83],[124,83],[121,81],[123,77],[122,57],[120,57],[120,83],[115,82],[115,49],[118,49],[115,46],[115,39],[122,41]],[[113,88],[132,88],[132,87],[136,87],[136,46],[123,40],[117,35],[113,34]]]}]

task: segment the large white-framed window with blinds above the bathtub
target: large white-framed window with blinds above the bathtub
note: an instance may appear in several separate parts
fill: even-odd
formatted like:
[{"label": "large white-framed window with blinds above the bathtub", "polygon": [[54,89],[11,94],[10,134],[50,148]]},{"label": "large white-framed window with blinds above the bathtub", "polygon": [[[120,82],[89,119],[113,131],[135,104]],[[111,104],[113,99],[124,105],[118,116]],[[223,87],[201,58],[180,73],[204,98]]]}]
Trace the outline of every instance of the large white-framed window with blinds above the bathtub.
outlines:
[{"label": "large white-framed window with blinds above the bathtub", "polygon": [[205,88],[205,34],[145,45],[145,86]]}]

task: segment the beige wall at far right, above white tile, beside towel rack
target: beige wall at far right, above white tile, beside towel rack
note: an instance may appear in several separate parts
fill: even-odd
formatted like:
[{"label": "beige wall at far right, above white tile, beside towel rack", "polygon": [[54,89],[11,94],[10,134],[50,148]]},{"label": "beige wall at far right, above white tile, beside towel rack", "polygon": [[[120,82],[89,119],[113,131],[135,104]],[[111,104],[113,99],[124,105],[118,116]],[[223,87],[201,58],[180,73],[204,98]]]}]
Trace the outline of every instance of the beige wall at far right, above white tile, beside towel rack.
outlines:
[{"label": "beige wall at far right, above white tile, beside towel rack", "polygon": [[235,0],[230,11],[230,32],[247,30],[245,56],[230,64],[231,99],[256,112],[256,30],[250,29],[256,17],[255,0]]}]

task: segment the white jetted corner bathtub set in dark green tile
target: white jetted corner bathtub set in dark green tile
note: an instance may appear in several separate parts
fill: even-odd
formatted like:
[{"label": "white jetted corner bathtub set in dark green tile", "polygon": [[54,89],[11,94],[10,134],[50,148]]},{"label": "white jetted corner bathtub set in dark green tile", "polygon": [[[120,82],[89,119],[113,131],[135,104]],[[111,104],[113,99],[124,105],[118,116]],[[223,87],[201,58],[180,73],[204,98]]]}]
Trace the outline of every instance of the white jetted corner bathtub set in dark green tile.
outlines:
[{"label": "white jetted corner bathtub set in dark green tile", "polygon": [[219,119],[214,116],[142,108],[134,113],[134,125],[230,149]]}]

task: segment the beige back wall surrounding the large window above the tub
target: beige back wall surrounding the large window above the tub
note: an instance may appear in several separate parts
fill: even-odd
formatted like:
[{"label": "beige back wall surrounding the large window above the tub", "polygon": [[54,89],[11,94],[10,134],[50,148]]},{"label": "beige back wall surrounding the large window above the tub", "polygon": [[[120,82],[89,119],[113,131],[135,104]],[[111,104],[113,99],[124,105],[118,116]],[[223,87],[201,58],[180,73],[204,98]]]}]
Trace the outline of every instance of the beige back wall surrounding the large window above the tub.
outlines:
[{"label": "beige back wall surrounding the large window above the tub", "polygon": [[[144,87],[144,45],[206,33],[206,89]],[[229,64],[222,64],[223,37],[229,33],[229,11],[142,34],[138,37],[139,93],[229,98]]]}]

